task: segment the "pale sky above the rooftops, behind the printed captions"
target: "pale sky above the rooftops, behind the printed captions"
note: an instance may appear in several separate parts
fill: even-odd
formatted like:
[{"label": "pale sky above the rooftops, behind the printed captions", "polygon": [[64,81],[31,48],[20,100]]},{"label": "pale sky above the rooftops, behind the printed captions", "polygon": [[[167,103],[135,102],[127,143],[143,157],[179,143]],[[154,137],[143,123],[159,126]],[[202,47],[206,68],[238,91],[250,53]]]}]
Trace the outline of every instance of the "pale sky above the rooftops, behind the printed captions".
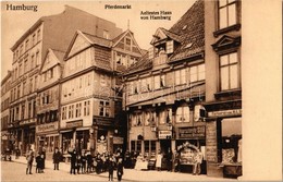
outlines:
[{"label": "pale sky above the rooftops, behind the printed captions", "polygon": [[[123,31],[134,33],[137,44],[148,49],[152,35],[158,27],[170,28],[193,5],[195,0],[163,1],[8,1],[1,2],[1,77],[12,68],[12,51],[15,41],[41,16],[59,14],[64,5],[75,7],[96,16],[111,21]],[[11,11],[7,4],[37,5],[37,11]],[[128,4],[131,9],[106,9],[106,4]],[[140,13],[146,11],[170,11],[171,20],[142,20]],[[128,23],[130,22],[130,23]]]}]

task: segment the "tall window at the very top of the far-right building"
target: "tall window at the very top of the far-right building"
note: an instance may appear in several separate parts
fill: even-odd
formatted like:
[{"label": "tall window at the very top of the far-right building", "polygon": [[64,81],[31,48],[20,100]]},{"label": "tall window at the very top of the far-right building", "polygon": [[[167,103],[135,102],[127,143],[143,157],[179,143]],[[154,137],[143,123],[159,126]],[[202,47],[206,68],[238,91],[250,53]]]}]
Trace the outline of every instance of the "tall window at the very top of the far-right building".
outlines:
[{"label": "tall window at the very top of the far-right building", "polygon": [[236,0],[219,0],[219,28],[236,24]]}]

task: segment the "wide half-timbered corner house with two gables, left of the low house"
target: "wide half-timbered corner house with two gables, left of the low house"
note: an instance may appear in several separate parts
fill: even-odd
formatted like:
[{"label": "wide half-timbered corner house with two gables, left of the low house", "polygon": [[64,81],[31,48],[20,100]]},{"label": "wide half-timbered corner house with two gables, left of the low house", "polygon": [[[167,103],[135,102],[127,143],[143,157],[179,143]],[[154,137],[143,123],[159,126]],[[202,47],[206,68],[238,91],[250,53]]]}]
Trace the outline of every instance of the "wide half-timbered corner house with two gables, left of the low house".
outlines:
[{"label": "wide half-timbered corner house with two gables, left of the low house", "polygon": [[60,122],[64,153],[113,153],[125,144],[118,74],[140,58],[142,50],[130,31],[115,35],[116,27],[103,25],[107,34],[77,31],[65,54]]}]

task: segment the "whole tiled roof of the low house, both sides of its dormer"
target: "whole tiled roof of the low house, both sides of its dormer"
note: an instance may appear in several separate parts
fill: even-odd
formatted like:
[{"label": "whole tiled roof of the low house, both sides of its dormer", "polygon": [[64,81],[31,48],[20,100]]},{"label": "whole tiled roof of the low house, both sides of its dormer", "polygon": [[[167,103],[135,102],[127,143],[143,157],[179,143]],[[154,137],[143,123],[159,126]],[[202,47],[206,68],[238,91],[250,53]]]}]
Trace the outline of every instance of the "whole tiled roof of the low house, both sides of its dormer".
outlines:
[{"label": "whole tiled roof of the low house, both sides of its dormer", "polygon": [[[174,62],[198,56],[205,51],[205,2],[196,1],[188,11],[169,29],[158,28],[156,34],[161,32],[181,45],[169,58],[169,62]],[[153,39],[151,40],[152,44]],[[140,58],[135,64],[130,66],[125,73],[134,73],[152,66],[152,59]]]}]

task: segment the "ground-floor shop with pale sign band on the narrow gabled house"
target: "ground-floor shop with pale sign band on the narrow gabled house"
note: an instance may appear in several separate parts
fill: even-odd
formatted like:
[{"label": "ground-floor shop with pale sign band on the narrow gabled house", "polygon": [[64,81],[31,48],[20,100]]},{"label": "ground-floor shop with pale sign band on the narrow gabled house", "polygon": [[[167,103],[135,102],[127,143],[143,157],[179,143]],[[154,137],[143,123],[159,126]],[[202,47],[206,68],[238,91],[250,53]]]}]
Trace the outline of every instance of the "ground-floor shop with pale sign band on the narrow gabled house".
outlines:
[{"label": "ground-floor shop with pale sign band on the narrow gabled house", "polygon": [[59,147],[59,123],[46,123],[36,126],[36,150],[46,153],[46,159],[51,160],[56,147]]}]

